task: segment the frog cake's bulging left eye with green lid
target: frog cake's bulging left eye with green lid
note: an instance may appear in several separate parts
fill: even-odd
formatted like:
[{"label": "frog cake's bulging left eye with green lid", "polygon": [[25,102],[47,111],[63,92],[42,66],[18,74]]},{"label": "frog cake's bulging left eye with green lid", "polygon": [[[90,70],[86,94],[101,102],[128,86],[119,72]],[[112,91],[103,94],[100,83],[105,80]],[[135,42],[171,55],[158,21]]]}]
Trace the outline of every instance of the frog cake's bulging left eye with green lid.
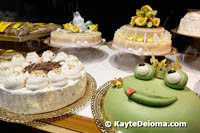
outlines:
[{"label": "frog cake's bulging left eye with green lid", "polygon": [[154,68],[147,63],[137,65],[134,72],[135,77],[142,80],[152,79],[155,73]]}]

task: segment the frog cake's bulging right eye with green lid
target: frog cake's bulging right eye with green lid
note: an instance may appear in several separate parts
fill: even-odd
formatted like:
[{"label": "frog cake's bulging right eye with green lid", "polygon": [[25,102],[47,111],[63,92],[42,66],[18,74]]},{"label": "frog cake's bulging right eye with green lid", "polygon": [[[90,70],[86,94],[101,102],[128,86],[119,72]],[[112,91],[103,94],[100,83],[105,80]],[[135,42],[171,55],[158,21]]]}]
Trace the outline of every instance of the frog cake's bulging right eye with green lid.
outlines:
[{"label": "frog cake's bulging right eye with green lid", "polygon": [[188,76],[181,70],[170,70],[165,74],[165,85],[173,89],[184,89],[187,84]]}]

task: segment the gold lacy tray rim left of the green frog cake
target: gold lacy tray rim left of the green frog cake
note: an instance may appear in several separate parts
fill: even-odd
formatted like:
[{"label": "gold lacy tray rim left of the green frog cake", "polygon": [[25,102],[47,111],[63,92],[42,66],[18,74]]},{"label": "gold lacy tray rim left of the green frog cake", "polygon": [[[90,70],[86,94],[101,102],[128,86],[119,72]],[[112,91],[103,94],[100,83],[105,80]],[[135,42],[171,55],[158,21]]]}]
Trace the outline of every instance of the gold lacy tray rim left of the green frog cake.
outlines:
[{"label": "gold lacy tray rim left of the green frog cake", "polygon": [[103,100],[106,92],[108,89],[112,86],[112,81],[108,81],[105,84],[103,84],[95,93],[95,95],[92,96],[91,101],[91,110],[92,114],[94,116],[94,120],[96,121],[96,124],[98,128],[103,133],[116,133],[116,130],[114,127],[106,127],[105,122],[109,121],[108,118],[105,115],[104,109],[103,109]]}]

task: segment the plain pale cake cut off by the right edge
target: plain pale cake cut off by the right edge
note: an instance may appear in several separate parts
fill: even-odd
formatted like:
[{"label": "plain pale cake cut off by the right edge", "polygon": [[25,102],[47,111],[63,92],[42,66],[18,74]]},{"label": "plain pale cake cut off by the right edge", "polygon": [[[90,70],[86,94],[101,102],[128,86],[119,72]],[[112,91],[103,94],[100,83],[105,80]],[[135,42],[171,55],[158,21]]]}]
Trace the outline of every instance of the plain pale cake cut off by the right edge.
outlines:
[{"label": "plain pale cake cut off by the right edge", "polygon": [[188,12],[180,21],[177,32],[200,37],[200,11]]}]

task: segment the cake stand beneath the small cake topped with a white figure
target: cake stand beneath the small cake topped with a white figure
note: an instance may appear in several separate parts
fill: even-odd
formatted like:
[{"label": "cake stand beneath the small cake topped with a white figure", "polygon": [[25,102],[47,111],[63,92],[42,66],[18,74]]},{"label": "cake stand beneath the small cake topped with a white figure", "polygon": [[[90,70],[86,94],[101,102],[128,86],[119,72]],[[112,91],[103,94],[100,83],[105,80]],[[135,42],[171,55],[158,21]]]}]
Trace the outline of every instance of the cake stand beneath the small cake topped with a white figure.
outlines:
[{"label": "cake stand beneath the small cake topped with a white figure", "polygon": [[[57,47],[50,43],[50,39],[46,39],[45,43],[49,46]],[[69,55],[75,55],[79,58],[79,60],[84,64],[96,63],[105,60],[108,57],[108,53],[104,50],[99,49],[100,46],[106,44],[105,39],[102,39],[100,43],[94,46],[82,46],[82,45],[65,45],[64,47],[59,48],[58,52],[65,52]]]}]

